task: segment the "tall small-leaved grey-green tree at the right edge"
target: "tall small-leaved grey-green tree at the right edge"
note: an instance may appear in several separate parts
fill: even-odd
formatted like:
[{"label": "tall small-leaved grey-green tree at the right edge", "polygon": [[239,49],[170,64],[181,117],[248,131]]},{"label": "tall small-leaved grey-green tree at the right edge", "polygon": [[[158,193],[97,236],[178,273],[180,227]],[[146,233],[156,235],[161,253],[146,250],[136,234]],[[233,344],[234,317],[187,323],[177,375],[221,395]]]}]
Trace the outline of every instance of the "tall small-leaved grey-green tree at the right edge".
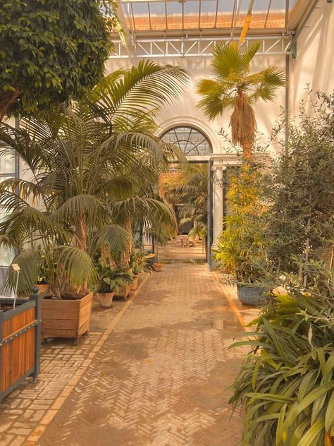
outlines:
[{"label": "tall small-leaved grey-green tree at the right edge", "polygon": [[303,259],[333,266],[334,94],[310,95],[309,104],[309,113],[302,104],[297,123],[290,122],[287,144],[278,140],[266,188],[271,260],[285,272],[300,272]]}]

